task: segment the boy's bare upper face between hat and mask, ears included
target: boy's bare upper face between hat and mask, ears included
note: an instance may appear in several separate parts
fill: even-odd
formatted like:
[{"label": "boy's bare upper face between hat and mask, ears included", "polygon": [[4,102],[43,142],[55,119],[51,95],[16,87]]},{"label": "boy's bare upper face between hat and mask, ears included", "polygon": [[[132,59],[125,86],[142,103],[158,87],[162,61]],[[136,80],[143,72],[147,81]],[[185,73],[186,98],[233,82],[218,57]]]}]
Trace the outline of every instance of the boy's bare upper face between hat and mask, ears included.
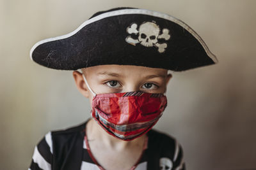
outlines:
[{"label": "boy's bare upper face between hat and mask, ears included", "polygon": [[[142,91],[164,93],[172,74],[167,69],[142,66],[102,65],[82,69],[88,84],[95,94]],[[78,71],[73,72],[76,86],[84,97],[90,99],[93,94],[84,83]]]}]

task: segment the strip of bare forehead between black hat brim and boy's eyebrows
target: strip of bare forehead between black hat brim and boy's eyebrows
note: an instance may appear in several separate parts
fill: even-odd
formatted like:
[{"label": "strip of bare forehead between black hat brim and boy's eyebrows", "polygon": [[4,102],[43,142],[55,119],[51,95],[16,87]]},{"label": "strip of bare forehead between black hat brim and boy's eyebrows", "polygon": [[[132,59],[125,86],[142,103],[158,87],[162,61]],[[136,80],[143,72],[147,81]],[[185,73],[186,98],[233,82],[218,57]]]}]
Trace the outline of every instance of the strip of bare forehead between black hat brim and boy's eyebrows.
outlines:
[{"label": "strip of bare forehead between black hat brim and boy's eyebrows", "polygon": [[128,65],[100,65],[82,69],[86,74],[116,73],[116,74],[167,74],[167,69],[128,66]]}]

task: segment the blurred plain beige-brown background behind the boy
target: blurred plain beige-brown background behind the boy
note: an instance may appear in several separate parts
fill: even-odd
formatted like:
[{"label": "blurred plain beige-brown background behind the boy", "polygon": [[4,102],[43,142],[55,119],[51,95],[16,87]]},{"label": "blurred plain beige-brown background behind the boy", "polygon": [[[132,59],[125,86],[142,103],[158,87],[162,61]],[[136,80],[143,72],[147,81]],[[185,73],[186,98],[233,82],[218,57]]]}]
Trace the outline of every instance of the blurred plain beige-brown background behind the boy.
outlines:
[{"label": "blurred plain beige-brown background behind the boy", "polygon": [[72,71],[29,59],[41,39],[74,31],[93,13],[119,6],[183,20],[219,63],[173,73],[156,129],[183,146],[187,169],[256,168],[256,1],[0,0],[0,169],[28,169],[49,131],[80,124],[90,105]]}]

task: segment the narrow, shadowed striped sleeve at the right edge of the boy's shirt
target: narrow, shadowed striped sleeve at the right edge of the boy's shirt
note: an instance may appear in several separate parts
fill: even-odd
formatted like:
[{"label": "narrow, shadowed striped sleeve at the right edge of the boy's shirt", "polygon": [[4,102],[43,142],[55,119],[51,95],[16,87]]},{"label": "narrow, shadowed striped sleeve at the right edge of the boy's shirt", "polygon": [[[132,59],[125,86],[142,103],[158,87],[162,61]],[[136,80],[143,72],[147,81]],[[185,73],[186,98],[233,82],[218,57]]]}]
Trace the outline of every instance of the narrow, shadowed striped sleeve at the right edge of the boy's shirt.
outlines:
[{"label": "narrow, shadowed striped sleeve at the right edge of the boy's shirt", "polygon": [[185,170],[185,162],[183,159],[183,150],[180,144],[175,141],[175,152],[173,157],[173,169],[175,170]]}]

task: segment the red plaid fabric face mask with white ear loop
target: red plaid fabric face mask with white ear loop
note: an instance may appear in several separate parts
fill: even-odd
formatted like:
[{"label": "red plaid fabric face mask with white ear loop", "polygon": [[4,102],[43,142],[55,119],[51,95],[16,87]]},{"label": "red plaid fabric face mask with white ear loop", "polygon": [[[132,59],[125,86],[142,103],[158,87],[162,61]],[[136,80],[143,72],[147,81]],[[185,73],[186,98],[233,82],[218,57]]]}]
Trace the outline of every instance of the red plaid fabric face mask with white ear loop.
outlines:
[{"label": "red plaid fabric face mask with white ear loop", "polygon": [[93,94],[92,117],[112,136],[129,141],[147,133],[163,115],[167,106],[164,94],[124,92]]}]

